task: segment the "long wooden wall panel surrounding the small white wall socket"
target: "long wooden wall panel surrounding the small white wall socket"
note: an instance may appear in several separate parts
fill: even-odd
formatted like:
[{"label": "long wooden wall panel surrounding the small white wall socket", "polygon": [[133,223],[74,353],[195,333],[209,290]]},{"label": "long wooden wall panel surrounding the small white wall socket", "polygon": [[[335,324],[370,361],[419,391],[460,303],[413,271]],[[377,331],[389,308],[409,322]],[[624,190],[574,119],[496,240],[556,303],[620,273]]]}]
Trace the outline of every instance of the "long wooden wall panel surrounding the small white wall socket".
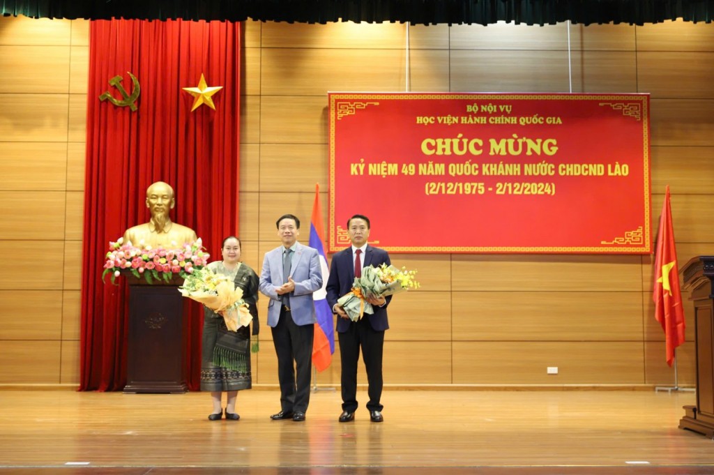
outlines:
[{"label": "long wooden wall panel surrounding the small white wall socket", "polygon": [[453,342],[455,384],[644,384],[644,370],[642,341]]}]

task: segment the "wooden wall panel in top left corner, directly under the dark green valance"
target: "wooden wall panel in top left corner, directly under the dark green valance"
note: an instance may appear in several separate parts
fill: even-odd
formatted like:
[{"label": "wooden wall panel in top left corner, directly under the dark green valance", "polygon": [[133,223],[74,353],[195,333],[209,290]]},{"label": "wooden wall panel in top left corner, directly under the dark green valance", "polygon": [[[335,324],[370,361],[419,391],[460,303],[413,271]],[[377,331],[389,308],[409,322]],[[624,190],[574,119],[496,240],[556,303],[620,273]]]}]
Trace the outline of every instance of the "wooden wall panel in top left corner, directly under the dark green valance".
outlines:
[{"label": "wooden wall panel in top left corner, directly under the dark green valance", "polygon": [[0,19],[0,44],[69,46],[71,21],[14,16]]}]

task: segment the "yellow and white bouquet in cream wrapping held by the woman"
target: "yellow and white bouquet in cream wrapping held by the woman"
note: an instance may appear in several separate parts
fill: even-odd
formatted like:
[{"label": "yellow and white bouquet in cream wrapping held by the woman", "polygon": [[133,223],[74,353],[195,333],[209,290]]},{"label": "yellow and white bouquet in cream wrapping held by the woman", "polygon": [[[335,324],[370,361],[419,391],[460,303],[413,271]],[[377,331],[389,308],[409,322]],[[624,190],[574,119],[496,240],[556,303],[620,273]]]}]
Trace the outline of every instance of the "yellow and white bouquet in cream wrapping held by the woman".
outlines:
[{"label": "yellow and white bouquet in cream wrapping held by the woman", "polygon": [[236,287],[228,277],[214,274],[208,267],[194,268],[183,285],[178,287],[178,291],[184,297],[221,314],[230,331],[248,326],[253,320],[248,304],[243,301],[243,289]]}]

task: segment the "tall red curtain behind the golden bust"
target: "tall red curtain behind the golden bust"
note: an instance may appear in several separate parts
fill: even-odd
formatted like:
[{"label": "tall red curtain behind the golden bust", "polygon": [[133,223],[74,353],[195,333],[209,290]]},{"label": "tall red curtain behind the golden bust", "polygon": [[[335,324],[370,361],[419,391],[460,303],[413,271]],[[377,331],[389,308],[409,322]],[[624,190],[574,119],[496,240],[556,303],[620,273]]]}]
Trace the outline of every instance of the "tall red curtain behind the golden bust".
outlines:
[{"label": "tall red curtain behind the golden bust", "polygon": [[[128,292],[104,284],[109,241],[149,221],[146,188],[174,187],[171,219],[189,226],[217,258],[223,236],[238,232],[238,146],[241,26],[228,21],[91,21],[87,99],[84,248],[81,291],[80,390],[116,391],[126,384]],[[121,99],[109,80],[120,75],[127,94],[139,80],[138,109],[99,101]],[[199,106],[183,87],[223,86]],[[109,281],[109,279],[107,279]],[[186,369],[199,387],[202,312],[188,306]]]}]

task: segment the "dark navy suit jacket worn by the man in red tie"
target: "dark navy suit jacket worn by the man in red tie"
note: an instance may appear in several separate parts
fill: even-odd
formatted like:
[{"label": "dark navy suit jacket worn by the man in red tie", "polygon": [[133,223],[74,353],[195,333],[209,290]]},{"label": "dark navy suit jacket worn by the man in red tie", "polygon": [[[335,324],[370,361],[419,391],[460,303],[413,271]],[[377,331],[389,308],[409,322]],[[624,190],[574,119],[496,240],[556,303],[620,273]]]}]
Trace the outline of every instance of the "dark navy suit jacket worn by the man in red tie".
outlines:
[{"label": "dark navy suit jacket worn by the man in red tie", "polygon": [[[380,264],[391,264],[389,254],[384,249],[367,245],[364,253],[364,265],[378,266]],[[330,277],[327,279],[327,303],[330,309],[333,309],[337,303],[337,299],[348,294],[352,289],[352,284],[355,281],[355,263],[352,261],[352,246],[339,251],[332,256],[332,264],[330,265]],[[387,320],[387,306],[391,296],[387,297],[387,303],[384,306],[373,306],[374,314],[364,314],[362,318],[368,319],[372,328],[377,331],[386,330],[389,328]],[[347,331],[350,326],[348,319],[337,318],[337,331],[342,333]]]}]

